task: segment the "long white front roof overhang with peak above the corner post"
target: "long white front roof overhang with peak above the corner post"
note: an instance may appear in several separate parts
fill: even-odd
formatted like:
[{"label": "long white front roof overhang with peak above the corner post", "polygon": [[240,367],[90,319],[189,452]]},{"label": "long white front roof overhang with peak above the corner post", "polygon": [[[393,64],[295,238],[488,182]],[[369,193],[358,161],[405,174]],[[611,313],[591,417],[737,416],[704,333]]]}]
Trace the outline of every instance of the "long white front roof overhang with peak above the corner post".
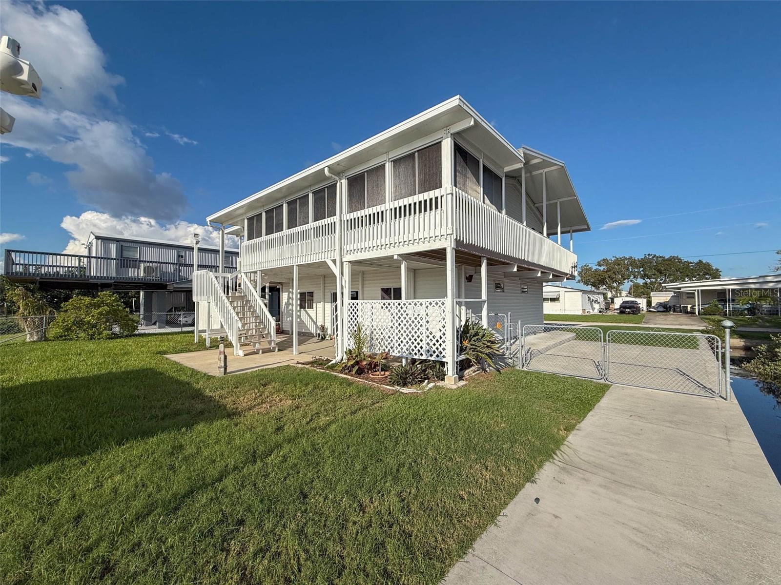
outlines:
[{"label": "long white front roof overhang with peak above the corner post", "polygon": [[490,156],[503,168],[512,168],[523,163],[522,152],[516,150],[483,116],[457,95],[209,215],[206,221],[223,225],[242,223],[246,215],[251,215],[265,207],[260,201],[264,197],[276,202],[284,197],[302,194],[312,186],[326,182],[326,167],[329,167],[330,172],[334,174],[348,172],[368,164],[387,152],[393,152],[414,143],[415,140],[422,140],[440,132],[444,128],[451,128],[451,133],[460,133],[471,143],[478,145],[484,154]]}]

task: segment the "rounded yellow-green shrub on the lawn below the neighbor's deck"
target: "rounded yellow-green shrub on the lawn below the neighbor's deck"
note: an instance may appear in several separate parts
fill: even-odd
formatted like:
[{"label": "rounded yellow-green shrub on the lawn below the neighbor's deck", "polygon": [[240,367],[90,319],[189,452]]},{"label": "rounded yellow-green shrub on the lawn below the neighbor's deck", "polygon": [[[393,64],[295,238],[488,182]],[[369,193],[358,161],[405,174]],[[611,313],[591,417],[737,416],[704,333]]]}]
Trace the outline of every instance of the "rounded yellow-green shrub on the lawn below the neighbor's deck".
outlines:
[{"label": "rounded yellow-green shrub on the lawn below the neighbor's deck", "polygon": [[74,296],[62,305],[49,328],[52,339],[111,339],[133,335],[138,320],[119,297],[103,292],[98,296]]}]

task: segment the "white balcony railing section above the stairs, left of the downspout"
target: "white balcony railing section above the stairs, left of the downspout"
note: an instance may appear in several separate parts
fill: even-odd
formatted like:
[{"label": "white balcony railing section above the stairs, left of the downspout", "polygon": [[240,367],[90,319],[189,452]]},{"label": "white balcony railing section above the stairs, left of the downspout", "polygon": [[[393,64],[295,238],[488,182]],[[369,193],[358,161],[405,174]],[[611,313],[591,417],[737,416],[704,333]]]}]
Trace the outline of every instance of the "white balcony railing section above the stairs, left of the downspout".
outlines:
[{"label": "white balcony railing section above the stairs, left of the downspout", "polygon": [[336,218],[326,218],[244,242],[241,270],[250,272],[334,258],[336,225]]}]

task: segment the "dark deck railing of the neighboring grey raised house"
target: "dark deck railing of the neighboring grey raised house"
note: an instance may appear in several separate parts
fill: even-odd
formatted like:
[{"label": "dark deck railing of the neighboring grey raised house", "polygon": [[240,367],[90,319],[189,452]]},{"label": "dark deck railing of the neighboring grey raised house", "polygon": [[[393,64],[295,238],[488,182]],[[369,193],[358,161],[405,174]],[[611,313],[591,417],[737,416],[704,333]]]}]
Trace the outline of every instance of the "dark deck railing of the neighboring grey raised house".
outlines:
[{"label": "dark deck railing of the neighboring grey raised house", "polygon": [[[217,271],[216,266],[199,265],[199,269]],[[233,270],[226,266],[225,270]],[[6,276],[23,278],[73,278],[130,282],[179,282],[192,277],[193,265],[181,262],[82,256],[58,252],[5,250]]]}]

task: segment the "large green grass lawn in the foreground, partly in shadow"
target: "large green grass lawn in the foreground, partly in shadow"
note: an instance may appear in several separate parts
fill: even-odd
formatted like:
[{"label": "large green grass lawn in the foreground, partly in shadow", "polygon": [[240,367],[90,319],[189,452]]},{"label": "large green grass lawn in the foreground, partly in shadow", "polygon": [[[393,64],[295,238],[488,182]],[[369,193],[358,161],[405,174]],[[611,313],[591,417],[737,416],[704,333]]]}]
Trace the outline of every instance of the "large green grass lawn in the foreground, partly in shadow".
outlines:
[{"label": "large green grass lawn in the foreground, partly in shadow", "polygon": [[162,356],[191,349],[0,346],[2,583],[438,583],[608,388],[387,394]]}]

